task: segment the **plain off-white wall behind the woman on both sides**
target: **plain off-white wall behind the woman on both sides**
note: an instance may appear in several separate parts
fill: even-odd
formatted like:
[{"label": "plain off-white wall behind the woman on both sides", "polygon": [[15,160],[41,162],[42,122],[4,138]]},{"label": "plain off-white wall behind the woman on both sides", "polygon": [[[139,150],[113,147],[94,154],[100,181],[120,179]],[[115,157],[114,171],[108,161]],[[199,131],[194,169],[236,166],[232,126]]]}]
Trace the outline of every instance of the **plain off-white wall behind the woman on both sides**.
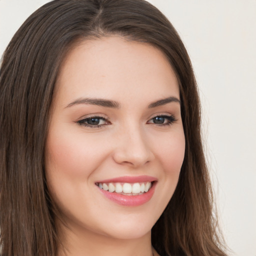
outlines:
[{"label": "plain off-white wall behind the woman on both sides", "polygon": [[[47,0],[0,0],[0,55]],[[150,0],[180,34],[202,102],[205,150],[231,255],[256,256],[256,0]]]}]

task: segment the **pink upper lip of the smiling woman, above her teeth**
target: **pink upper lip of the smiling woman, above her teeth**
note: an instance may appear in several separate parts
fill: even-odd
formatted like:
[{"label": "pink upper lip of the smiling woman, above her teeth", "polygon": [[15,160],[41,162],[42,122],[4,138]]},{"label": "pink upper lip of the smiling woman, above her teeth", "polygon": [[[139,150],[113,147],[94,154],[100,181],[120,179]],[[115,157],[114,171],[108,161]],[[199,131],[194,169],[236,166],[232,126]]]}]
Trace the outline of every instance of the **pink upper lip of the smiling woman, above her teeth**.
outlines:
[{"label": "pink upper lip of the smiling woman, above her teeth", "polygon": [[108,178],[104,180],[98,180],[95,183],[139,183],[139,182],[152,182],[156,181],[157,178],[153,176],[148,175],[140,175],[140,176],[121,176],[121,177],[115,177],[115,178]]}]

